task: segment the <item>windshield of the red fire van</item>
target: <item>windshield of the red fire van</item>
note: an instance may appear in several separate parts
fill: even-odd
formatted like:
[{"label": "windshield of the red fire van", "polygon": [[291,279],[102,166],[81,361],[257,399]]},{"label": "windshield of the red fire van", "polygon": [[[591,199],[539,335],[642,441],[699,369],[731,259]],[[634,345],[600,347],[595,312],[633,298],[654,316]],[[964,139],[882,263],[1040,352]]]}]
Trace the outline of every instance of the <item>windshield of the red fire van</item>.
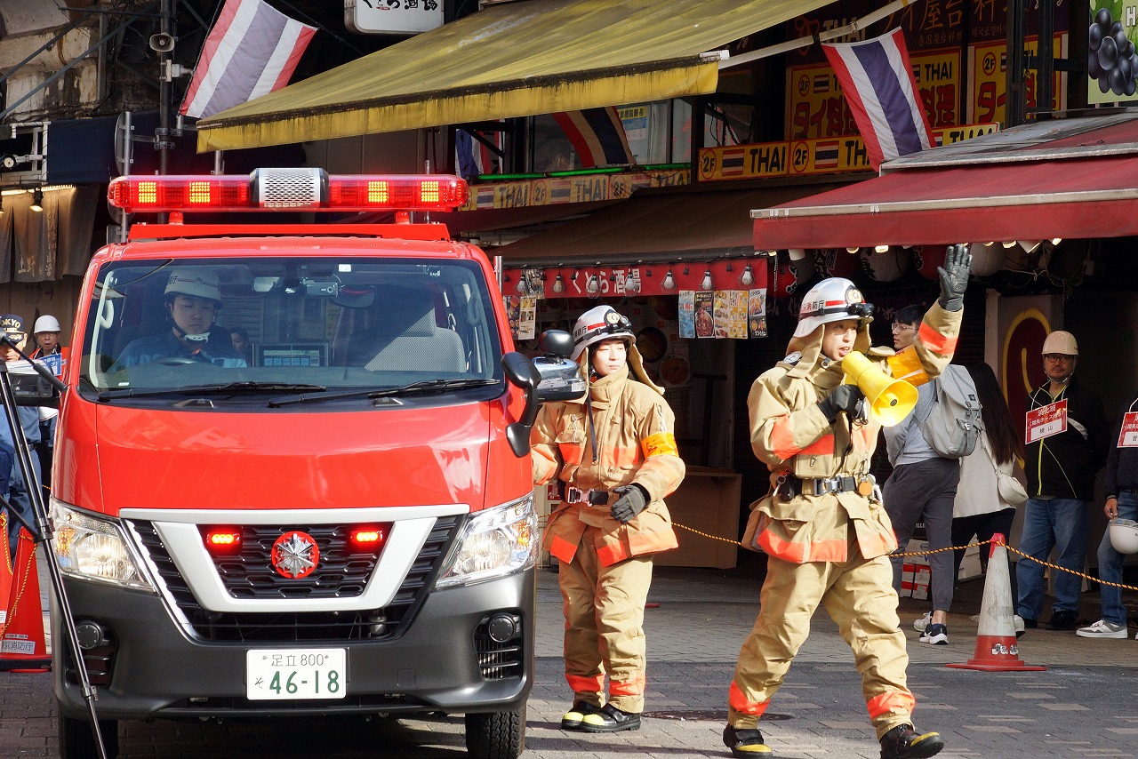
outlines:
[{"label": "windshield of the red fire van", "polygon": [[100,271],[90,304],[81,391],[129,403],[208,389],[224,405],[438,380],[493,387],[502,379],[493,324],[481,269],[468,261],[118,261]]}]

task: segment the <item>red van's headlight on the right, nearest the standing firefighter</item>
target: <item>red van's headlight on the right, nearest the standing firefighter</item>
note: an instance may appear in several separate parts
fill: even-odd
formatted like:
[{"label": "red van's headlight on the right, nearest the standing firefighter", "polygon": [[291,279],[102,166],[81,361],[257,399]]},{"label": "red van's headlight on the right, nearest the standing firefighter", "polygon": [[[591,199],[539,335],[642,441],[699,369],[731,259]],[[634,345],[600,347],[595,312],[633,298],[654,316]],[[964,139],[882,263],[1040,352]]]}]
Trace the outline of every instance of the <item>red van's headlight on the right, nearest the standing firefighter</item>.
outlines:
[{"label": "red van's headlight on the right, nearest the standing firefighter", "polygon": [[534,496],[472,514],[455,542],[435,587],[496,579],[537,561],[537,514]]}]

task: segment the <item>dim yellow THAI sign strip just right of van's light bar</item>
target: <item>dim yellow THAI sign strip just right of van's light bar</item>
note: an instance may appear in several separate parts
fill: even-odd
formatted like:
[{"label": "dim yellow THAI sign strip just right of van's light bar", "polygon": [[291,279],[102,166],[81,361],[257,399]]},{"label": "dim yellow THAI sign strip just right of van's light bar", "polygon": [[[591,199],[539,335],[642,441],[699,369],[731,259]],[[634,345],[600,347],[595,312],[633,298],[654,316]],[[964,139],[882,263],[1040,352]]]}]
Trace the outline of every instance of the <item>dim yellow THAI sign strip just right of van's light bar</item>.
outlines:
[{"label": "dim yellow THAI sign strip just right of van's light bar", "polygon": [[622,200],[636,190],[644,188],[690,184],[691,181],[691,172],[684,168],[634,174],[582,174],[579,176],[543,176],[509,182],[489,182],[471,185],[470,199],[459,211]]}]

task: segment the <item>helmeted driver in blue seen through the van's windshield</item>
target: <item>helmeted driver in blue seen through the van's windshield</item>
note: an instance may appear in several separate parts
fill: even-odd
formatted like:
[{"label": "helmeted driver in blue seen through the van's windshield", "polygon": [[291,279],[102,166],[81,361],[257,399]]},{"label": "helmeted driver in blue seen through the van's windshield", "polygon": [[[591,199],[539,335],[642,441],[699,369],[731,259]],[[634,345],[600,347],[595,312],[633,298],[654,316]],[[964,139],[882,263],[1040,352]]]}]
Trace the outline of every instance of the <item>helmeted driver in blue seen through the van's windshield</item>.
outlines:
[{"label": "helmeted driver in blue seen through the van's windshield", "polygon": [[112,371],[163,360],[171,360],[164,363],[201,362],[225,369],[248,365],[230,344],[228,330],[209,339],[214,317],[221,310],[221,289],[215,273],[205,269],[175,270],[166,282],[163,300],[170,330],[127,344]]}]

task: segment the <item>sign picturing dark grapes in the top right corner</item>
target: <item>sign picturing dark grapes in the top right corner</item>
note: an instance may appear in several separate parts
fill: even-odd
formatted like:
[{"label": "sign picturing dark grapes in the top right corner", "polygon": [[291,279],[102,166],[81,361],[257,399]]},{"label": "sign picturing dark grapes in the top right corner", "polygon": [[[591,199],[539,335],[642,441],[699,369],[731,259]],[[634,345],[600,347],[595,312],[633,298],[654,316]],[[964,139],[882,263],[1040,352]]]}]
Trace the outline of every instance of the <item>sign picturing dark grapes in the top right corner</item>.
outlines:
[{"label": "sign picturing dark grapes in the top right corner", "polygon": [[[1138,85],[1138,3],[1090,0],[1087,105],[1133,100]],[[1075,56],[1072,56],[1074,58]]]}]

